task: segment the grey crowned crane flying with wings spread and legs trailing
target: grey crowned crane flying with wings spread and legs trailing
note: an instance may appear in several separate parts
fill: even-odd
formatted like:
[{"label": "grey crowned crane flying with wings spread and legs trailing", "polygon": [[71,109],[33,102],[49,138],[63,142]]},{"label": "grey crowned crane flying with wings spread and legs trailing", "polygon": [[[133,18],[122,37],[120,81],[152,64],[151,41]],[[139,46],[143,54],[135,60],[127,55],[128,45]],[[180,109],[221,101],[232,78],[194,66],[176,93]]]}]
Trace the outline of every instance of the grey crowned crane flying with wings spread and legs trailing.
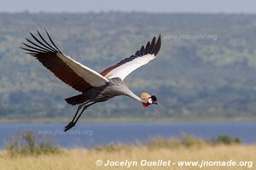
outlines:
[{"label": "grey crowned crane flying with wings spread and legs trailing", "polygon": [[38,59],[55,77],[79,91],[79,94],[65,99],[69,105],[78,105],[72,121],[64,128],[65,132],[76,125],[79,117],[90,105],[107,101],[116,96],[131,97],[131,99],[136,99],[144,107],[153,104],[159,105],[155,95],[143,92],[139,97],[123,81],[132,71],[156,58],[161,47],[160,35],[157,40],[156,37],[153,37],[151,42],[148,41],[135,54],[100,73],[62,53],[45,28],[44,34],[37,30],[34,34],[30,32],[30,35],[31,38],[25,38],[26,41],[22,42],[20,47],[25,50],[24,53]]}]

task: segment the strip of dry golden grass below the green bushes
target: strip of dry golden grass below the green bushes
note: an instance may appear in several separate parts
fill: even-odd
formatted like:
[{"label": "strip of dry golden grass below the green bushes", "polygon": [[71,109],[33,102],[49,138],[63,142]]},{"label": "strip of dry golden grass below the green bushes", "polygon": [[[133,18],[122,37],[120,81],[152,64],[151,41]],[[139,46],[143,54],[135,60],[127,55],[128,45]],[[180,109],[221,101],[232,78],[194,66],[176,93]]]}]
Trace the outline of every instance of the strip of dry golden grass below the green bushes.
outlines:
[{"label": "strip of dry golden grass below the green bushes", "polygon": [[[9,157],[0,151],[0,167],[5,170],[79,170],[79,169],[120,169],[127,167],[96,166],[97,160],[111,161],[253,161],[256,162],[256,145],[217,145],[177,149],[150,150],[143,146],[124,147],[118,151],[87,150],[82,148],[64,150],[61,154],[43,156]],[[255,165],[253,165],[255,167]],[[250,169],[253,169],[251,167]],[[129,167],[129,169],[236,169],[236,167]],[[238,169],[248,169],[239,167]]]}]

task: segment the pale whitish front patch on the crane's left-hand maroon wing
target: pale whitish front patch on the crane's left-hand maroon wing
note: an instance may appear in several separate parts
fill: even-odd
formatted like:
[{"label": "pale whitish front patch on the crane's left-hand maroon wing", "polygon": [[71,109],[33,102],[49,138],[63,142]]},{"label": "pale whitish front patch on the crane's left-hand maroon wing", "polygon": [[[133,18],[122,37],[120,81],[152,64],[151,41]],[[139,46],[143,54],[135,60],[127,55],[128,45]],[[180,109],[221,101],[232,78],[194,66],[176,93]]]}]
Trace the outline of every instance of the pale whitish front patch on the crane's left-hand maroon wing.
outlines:
[{"label": "pale whitish front patch on the crane's left-hand maroon wing", "polygon": [[102,75],[96,71],[93,71],[89,67],[86,67],[78,61],[75,61],[70,56],[61,53],[57,53],[56,55],[63,62],[65,62],[77,75],[79,75],[79,77],[82,77],[85,82],[90,83],[91,86],[100,87],[108,82],[108,78],[102,77]]}]

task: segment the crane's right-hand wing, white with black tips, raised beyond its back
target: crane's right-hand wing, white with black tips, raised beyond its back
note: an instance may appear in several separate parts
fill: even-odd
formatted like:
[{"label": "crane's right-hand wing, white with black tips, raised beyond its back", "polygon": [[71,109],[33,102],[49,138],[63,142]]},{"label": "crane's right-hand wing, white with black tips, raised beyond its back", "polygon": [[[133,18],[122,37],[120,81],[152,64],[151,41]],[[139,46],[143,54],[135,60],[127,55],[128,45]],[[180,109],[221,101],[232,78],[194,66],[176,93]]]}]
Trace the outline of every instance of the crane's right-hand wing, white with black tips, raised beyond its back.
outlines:
[{"label": "crane's right-hand wing, white with black tips, raised beyond its back", "polygon": [[155,42],[154,37],[151,42],[147,43],[146,47],[143,46],[141,49],[137,50],[134,55],[131,55],[131,57],[123,59],[118,64],[102,71],[101,75],[109,79],[119,77],[124,80],[132,71],[148,64],[150,60],[154,59],[160,51],[160,47],[161,37],[159,36],[157,42]]}]

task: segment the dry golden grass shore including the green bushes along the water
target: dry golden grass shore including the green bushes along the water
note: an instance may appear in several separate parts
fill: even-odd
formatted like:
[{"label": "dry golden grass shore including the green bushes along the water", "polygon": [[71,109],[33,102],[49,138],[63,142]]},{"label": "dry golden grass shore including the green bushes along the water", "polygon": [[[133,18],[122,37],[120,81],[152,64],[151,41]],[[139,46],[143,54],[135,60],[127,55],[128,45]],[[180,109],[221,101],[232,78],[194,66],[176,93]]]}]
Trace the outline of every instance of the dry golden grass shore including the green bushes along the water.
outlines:
[{"label": "dry golden grass shore including the green bushes along the water", "polygon": [[[217,139],[200,139],[189,135],[177,138],[154,138],[136,144],[108,144],[88,148],[64,149],[44,143],[32,133],[20,133],[11,140],[9,147],[0,150],[0,167],[5,170],[79,170],[79,169],[234,169],[234,166],[203,167],[178,166],[179,161],[194,161],[200,165],[205,161],[247,161],[239,169],[253,169],[256,162],[256,144],[241,144],[228,136]],[[103,165],[97,166],[101,161]],[[125,161],[171,161],[170,166],[108,166],[107,162]],[[254,165],[255,166],[255,165]]]}]

